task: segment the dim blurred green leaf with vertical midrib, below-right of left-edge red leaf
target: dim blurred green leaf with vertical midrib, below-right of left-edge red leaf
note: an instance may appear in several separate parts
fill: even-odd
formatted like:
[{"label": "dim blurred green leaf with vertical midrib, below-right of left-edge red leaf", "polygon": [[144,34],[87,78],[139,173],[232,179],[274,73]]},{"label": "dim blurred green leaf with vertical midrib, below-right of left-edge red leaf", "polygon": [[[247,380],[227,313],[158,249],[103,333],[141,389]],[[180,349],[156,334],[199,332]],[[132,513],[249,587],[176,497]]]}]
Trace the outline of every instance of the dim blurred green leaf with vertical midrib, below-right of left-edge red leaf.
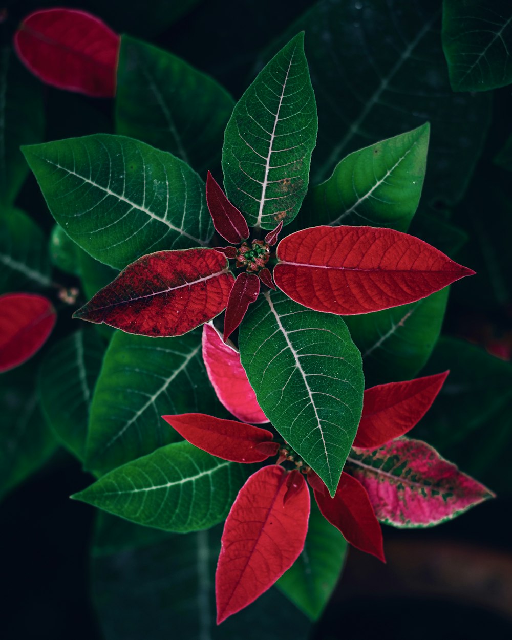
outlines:
[{"label": "dim blurred green leaf with vertical midrib, below-right of left-edge red leaf", "polygon": [[58,440],[84,459],[89,409],[104,344],[93,328],[79,329],[45,353],[38,378],[39,397]]}]

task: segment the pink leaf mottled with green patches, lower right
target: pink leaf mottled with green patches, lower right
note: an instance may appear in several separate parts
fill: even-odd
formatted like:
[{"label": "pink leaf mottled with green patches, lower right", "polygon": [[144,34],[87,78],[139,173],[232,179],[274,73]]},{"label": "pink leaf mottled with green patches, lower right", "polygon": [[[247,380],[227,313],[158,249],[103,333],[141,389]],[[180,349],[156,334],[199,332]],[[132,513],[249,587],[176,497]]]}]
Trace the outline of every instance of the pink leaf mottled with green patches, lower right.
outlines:
[{"label": "pink leaf mottled with green patches, lower right", "polygon": [[367,490],[375,515],[395,527],[430,527],[494,494],[420,440],[353,449],[345,471]]}]

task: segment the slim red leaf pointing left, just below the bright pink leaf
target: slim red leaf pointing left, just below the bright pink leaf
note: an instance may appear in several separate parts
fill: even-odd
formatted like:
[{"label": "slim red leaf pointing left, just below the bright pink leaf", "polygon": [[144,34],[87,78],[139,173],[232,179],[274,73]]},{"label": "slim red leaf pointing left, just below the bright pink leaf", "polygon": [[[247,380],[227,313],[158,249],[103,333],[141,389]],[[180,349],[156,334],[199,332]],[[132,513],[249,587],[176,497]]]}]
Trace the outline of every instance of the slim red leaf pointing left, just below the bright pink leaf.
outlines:
[{"label": "slim red leaf pointing left, just below the bright pink leaf", "polygon": [[274,436],[270,431],[253,427],[252,424],[221,420],[204,413],[162,417],[190,444],[217,458],[232,462],[262,462],[271,455],[260,451],[257,445],[270,442]]}]

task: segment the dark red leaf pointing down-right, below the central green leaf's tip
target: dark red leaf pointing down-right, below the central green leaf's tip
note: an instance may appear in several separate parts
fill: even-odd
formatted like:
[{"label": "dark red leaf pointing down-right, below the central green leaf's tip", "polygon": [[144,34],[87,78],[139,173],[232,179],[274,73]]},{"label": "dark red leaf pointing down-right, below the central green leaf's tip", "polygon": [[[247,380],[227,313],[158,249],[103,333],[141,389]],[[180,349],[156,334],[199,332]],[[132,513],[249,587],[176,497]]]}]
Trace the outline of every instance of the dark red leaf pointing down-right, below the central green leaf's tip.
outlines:
[{"label": "dark red leaf pointing down-right, below the central green leaf's tip", "polygon": [[342,532],[353,547],[385,562],[382,531],[364,486],[342,472],[334,497],[314,490],[315,499],[326,520]]}]

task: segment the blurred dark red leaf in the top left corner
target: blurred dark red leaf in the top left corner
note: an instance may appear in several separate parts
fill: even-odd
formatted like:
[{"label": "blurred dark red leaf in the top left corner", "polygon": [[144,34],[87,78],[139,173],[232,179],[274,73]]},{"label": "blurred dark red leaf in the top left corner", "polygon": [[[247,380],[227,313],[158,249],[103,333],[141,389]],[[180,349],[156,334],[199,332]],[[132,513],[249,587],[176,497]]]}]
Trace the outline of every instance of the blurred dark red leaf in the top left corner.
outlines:
[{"label": "blurred dark red leaf in the top left corner", "polygon": [[25,65],[42,81],[93,97],[113,97],[120,37],[97,17],[74,9],[28,15],[14,36]]}]

